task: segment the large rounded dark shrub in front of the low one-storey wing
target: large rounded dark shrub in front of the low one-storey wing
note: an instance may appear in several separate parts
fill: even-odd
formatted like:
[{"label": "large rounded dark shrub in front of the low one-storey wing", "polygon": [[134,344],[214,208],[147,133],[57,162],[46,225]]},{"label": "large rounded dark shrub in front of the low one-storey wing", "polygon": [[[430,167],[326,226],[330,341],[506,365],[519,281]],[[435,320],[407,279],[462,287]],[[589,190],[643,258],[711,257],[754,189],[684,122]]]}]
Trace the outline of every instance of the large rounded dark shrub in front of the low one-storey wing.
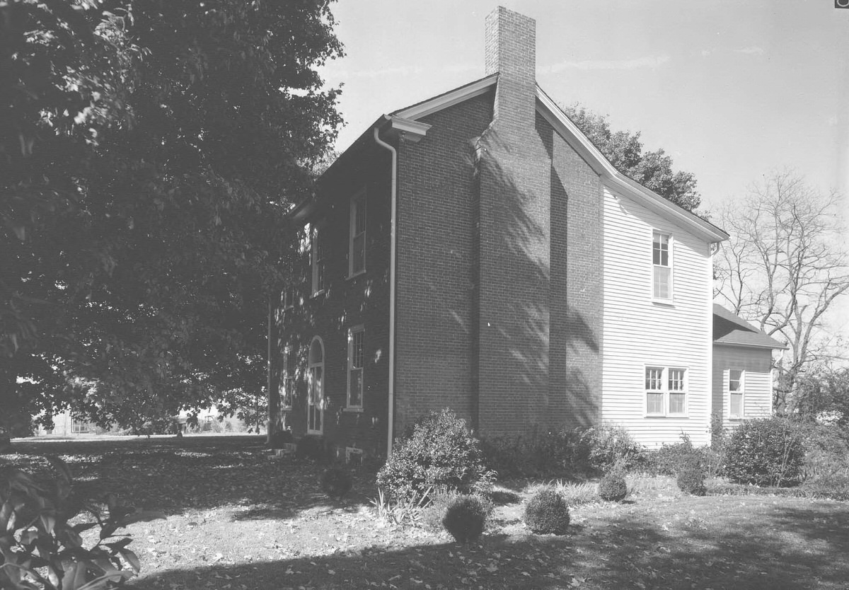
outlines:
[{"label": "large rounded dark shrub in front of the low one-storey wing", "polygon": [[796,486],[805,449],[801,430],[784,418],[747,420],[728,437],[723,469],[729,480],[757,486]]}]

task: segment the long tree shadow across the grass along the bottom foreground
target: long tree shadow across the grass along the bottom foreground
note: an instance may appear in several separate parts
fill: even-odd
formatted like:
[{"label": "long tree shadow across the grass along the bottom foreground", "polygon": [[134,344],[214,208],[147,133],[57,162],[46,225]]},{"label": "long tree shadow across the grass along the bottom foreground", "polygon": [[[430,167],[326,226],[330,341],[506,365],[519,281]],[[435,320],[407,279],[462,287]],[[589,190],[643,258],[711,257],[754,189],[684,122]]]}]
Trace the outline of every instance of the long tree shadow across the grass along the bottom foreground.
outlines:
[{"label": "long tree shadow across the grass along the bottom foreground", "polygon": [[[406,548],[167,570],[134,587],[276,588],[748,588],[846,587],[849,507],[767,506],[711,526],[621,514],[588,519],[565,537],[486,536]],[[685,513],[686,514],[686,513]],[[745,520],[745,514],[752,516]],[[756,517],[755,517],[756,515]],[[662,520],[662,519],[661,519]],[[229,586],[228,586],[229,585]]]}]

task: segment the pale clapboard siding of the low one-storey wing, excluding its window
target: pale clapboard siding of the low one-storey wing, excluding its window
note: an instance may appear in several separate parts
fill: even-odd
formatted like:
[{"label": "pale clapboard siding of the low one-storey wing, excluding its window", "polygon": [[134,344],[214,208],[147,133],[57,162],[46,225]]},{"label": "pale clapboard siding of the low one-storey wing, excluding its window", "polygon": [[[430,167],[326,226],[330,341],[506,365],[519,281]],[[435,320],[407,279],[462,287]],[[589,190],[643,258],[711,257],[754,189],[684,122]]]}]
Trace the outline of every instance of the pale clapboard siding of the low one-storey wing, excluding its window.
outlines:
[{"label": "pale clapboard siding of the low one-storey wing, excluding its window", "polygon": [[773,351],[750,346],[713,346],[713,412],[722,416],[722,425],[733,430],[739,419],[731,419],[728,371],[743,374],[743,419],[766,418],[773,413]]}]

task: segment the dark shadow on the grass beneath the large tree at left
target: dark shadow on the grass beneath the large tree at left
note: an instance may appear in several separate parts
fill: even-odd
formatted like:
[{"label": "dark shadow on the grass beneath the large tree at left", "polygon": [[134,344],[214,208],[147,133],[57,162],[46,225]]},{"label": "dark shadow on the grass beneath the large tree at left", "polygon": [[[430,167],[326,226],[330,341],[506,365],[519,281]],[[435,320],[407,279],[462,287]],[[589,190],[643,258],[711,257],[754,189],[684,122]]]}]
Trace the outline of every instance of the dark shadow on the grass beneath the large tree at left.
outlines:
[{"label": "dark shadow on the grass beneath the large tree at left", "polygon": [[5,460],[48,469],[38,455],[69,464],[75,491],[99,498],[113,492],[141,509],[183,514],[240,506],[239,520],[290,518],[304,510],[363,505],[374,496],[374,471],[351,470],[354,488],[341,504],[318,489],[324,467],[273,459],[263,436],[127,437],[104,441],[16,441]]}]

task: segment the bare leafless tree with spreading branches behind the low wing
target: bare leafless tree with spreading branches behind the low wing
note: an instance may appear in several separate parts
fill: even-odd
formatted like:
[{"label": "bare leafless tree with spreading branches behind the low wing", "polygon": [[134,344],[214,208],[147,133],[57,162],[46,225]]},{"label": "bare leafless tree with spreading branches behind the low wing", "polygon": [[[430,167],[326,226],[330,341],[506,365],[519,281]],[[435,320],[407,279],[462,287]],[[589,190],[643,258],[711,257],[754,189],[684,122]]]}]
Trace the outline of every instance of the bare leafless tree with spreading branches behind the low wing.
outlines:
[{"label": "bare leafless tree with spreading branches behind the low wing", "polygon": [[790,347],[776,404],[792,402],[801,376],[829,356],[829,310],[849,289],[849,252],[822,194],[794,171],[773,171],[718,223],[731,234],[717,256],[717,299]]}]

